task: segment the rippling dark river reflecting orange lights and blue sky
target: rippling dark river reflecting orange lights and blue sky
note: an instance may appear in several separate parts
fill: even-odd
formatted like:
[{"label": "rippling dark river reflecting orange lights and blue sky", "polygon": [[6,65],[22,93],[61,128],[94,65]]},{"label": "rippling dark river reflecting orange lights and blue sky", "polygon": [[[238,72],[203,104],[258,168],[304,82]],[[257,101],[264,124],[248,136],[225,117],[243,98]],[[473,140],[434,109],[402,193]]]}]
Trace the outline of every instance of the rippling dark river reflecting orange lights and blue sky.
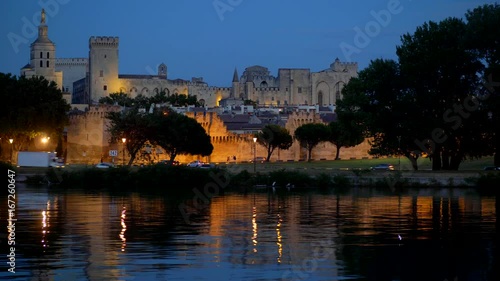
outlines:
[{"label": "rippling dark river reflecting orange lights and blue sky", "polygon": [[500,280],[498,200],[474,189],[16,195],[5,280]]}]

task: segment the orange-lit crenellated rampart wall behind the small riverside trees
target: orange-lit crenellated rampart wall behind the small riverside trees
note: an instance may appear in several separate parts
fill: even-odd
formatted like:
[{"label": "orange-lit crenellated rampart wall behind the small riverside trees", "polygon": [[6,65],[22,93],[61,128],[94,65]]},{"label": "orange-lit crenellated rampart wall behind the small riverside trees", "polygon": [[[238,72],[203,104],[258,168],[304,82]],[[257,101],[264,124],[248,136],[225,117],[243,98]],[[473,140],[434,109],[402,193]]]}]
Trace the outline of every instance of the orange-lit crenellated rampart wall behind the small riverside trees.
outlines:
[{"label": "orange-lit crenellated rampart wall behind the small riverside trees", "polygon": [[[118,111],[117,106],[91,106],[87,112],[78,112],[70,115],[70,125],[68,126],[67,134],[67,161],[69,163],[98,163],[101,160],[111,162],[113,158],[109,156],[109,150],[117,150],[118,156],[115,157],[115,163],[123,161],[123,144],[109,144],[110,135],[107,131],[109,121],[106,119],[106,114],[110,111]],[[188,112],[186,115],[194,118],[202,125],[205,131],[210,135],[214,150],[209,157],[199,157],[196,155],[179,155],[176,160],[183,163],[190,162],[196,159],[203,161],[222,163],[228,160],[234,161],[250,161],[253,159],[253,135],[251,134],[235,134],[227,130],[222,119],[215,112],[194,113]],[[311,110],[310,112],[299,111],[288,116],[285,128],[293,135],[295,130],[308,123],[323,122],[319,114]],[[341,158],[350,159],[369,157],[368,149],[370,148],[367,141],[352,147],[342,148]],[[167,159],[165,154],[157,154],[155,150],[151,159],[158,161]],[[320,159],[335,159],[335,146],[325,142],[319,144],[312,154],[314,160]],[[142,152],[141,152],[142,153]],[[138,160],[141,159],[139,153]],[[146,155],[147,153],[144,153]],[[149,155],[152,154],[147,154]],[[266,150],[260,145],[256,145],[257,157],[266,157]],[[128,154],[125,159],[128,160]],[[294,141],[292,147],[288,150],[275,151],[271,157],[271,161],[299,161],[307,159],[307,151],[301,148],[298,141]]]}]

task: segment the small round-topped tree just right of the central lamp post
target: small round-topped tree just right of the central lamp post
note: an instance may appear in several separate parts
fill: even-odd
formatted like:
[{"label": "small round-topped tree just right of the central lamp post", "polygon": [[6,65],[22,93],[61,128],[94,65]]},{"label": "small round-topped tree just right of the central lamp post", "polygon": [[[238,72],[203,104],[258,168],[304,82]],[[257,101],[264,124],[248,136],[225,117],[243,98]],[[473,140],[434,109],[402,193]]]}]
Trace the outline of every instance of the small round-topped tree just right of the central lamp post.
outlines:
[{"label": "small round-topped tree just right of the central lamp post", "polygon": [[266,125],[262,132],[256,134],[256,137],[257,142],[267,150],[266,162],[269,162],[276,148],[286,150],[293,144],[290,132],[286,128],[274,124]]}]

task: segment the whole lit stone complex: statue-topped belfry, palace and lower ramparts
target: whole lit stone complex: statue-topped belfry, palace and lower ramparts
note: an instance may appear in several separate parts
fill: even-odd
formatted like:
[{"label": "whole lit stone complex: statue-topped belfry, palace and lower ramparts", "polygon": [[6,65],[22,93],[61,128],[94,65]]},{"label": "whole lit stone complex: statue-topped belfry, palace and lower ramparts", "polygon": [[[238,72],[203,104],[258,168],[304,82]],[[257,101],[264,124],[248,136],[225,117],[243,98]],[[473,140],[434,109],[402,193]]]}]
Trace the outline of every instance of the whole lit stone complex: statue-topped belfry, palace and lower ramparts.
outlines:
[{"label": "whole lit stone complex: statue-topped belfry, palace and lower ramparts", "polygon": [[[21,68],[21,75],[43,76],[54,81],[71,104],[73,110],[65,132],[68,162],[115,161],[108,152],[123,150],[120,143],[109,143],[107,131],[106,113],[119,108],[98,103],[100,98],[111,93],[123,92],[132,98],[160,92],[195,95],[203,107],[196,109],[198,112],[188,110],[186,114],[202,124],[212,138],[214,152],[205,161],[224,162],[228,156],[248,160],[252,158],[253,133],[266,124],[280,124],[293,134],[302,124],[334,120],[333,108],[336,101],[342,98],[342,88],[349,79],[357,77],[358,72],[357,63],[341,62],[339,59],[322,71],[280,68],[277,76],[272,75],[268,68],[255,65],[245,68],[241,76],[235,69],[232,77],[228,77],[232,78],[231,87],[217,87],[208,85],[202,77],[169,79],[164,63],[158,66],[157,73],[120,74],[118,49],[118,37],[92,36],[89,38],[88,57],[57,58],[42,10],[38,38],[31,44],[30,63]],[[244,110],[246,100],[251,100],[260,111]],[[288,115],[264,116],[258,113],[268,109],[286,109],[282,112]],[[343,152],[347,158],[366,158],[368,148],[368,143],[364,142],[357,147],[343,149]],[[260,148],[253,149],[257,149],[257,154],[264,153]],[[161,150],[152,153],[149,149],[143,154],[150,161],[152,154],[155,154],[154,160],[165,157]],[[306,151],[295,141],[292,148],[273,156],[273,160],[298,161],[305,156]],[[322,144],[313,154],[313,158],[321,160],[334,159],[335,156],[335,149],[329,143]],[[180,156],[179,160],[195,158]]]}]

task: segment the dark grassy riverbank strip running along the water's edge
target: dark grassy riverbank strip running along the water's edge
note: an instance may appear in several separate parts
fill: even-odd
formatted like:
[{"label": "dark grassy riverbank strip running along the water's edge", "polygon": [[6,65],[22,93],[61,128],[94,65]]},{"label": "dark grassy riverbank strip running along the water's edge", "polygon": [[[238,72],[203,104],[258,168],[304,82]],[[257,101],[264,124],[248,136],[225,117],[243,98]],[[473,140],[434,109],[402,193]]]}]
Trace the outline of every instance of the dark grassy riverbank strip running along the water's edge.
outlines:
[{"label": "dark grassy riverbank strip running along the water's edge", "polygon": [[[264,164],[265,165],[265,164]],[[484,171],[372,171],[368,169],[333,169],[303,165],[283,166],[229,164],[215,169],[186,166],[151,165],[97,169],[18,168],[17,181],[31,184],[57,184],[63,188],[164,190],[187,189],[216,184],[218,188],[248,190],[272,188],[334,188],[367,186],[404,187],[482,187],[500,186],[500,172]],[[496,189],[495,189],[496,192]]]}]

